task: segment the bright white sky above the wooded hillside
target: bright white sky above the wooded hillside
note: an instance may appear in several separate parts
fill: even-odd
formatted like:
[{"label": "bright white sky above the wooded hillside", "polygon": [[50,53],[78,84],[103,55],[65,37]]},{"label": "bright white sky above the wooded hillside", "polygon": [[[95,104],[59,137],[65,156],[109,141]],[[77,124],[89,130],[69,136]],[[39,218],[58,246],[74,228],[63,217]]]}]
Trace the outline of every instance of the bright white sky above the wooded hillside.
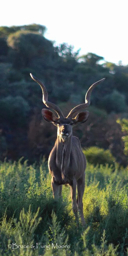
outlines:
[{"label": "bright white sky above the wooded hillside", "polygon": [[128,64],[127,0],[2,1],[0,26],[45,25],[45,37]]}]

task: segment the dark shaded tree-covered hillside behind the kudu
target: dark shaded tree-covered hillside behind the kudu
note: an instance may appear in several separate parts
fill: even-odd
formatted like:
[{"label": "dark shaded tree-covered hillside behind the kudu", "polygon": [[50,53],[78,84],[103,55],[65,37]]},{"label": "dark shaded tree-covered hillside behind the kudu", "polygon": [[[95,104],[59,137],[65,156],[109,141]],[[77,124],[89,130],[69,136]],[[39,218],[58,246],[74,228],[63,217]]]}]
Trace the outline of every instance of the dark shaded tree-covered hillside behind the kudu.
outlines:
[{"label": "dark shaded tree-covered hillside behind the kudu", "polygon": [[79,56],[79,50],[74,52],[66,43],[55,46],[45,38],[45,31],[38,24],[0,27],[0,159],[24,156],[34,163],[42,156],[47,159],[54,145],[56,128],[42,121],[42,92],[31,72],[44,82],[49,101],[64,114],[84,103],[91,84],[105,77],[92,92],[87,123],[73,132],[85,149],[109,148],[126,166],[123,132],[116,119],[127,118],[128,66],[106,62],[93,53]]}]

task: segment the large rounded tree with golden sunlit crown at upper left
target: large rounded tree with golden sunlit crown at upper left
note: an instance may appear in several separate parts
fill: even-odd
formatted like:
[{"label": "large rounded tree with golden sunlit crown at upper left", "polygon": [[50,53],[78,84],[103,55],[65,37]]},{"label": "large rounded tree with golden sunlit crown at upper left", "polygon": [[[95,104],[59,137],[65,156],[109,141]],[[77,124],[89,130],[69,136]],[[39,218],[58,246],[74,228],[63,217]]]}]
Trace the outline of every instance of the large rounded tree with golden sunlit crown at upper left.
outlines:
[{"label": "large rounded tree with golden sunlit crown at upper left", "polygon": [[17,31],[8,36],[7,42],[12,49],[10,57],[14,59],[15,68],[28,67],[34,58],[54,52],[52,42],[37,32]]}]

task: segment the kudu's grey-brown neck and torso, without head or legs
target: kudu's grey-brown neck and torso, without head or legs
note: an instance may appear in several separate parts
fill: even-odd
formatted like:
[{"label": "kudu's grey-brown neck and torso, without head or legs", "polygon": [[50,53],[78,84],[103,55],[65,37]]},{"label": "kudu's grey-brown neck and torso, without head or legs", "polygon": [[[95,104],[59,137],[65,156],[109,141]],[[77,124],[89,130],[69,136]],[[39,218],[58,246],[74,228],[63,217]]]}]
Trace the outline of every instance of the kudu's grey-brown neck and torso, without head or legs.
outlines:
[{"label": "kudu's grey-brown neck and torso, without head or legs", "polygon": [[[65,156],[62,155],[64,146]],[[62,158],[63,168],[61,169]],[[86,169],[86,158],[78,138],[71,135],[67,141],[62,142],[57,136],[55,145],[49,155],[48,166],[52,177],[58,185],[71,184],[74,178],[78,180]]]}]

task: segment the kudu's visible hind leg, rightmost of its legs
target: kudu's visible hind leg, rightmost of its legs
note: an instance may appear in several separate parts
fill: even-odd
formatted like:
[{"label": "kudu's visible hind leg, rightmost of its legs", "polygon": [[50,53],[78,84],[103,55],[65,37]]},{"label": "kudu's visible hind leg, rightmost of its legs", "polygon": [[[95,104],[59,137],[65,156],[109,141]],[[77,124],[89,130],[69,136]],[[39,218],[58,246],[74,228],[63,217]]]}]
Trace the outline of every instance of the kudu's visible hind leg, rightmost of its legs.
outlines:
[{"label": "kudu's visible hind leg, rightmost of its legs", "polygon": [[85,172],[83,173],[83,176],[77,180],[77,191],[78,191],[77,205],[78,205],[78,210],[80,213],[81,222],[83,226],[85,225],[85,220],[83,215],[83,202],[82,202],[84,188],[85,188]]}]

